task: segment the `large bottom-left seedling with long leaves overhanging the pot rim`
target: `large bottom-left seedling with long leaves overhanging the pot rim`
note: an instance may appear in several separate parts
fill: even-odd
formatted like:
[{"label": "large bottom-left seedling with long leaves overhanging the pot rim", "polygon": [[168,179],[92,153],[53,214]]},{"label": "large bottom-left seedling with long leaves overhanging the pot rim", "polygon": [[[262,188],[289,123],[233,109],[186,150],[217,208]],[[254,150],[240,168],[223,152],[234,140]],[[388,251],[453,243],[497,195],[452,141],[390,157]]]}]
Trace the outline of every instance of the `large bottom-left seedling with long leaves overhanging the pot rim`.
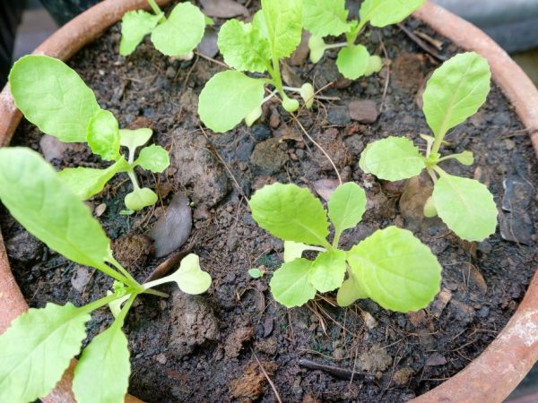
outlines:
[{"label": "large bottom-left seedling with long leaves overhanging the pot rim", "polygon": [[33,150],[0,150],[0,200],[50,249],[115,280],[112,292],[90,304],[48,303],[12,322],[0,336],[0,401],[31,402],[47,396],[80,353],[91,312],[108,304],[115,319],[82,351],[73,391],[78,403],[123,403],[130,364],[122,326],[136,296],[166,296],[152,289],[166,282],[176,282],[187,294],[201,294],[211,285],[210,275],[191,253],[168,277],[138,283],[114,259],[110,240],[90,210]]}]

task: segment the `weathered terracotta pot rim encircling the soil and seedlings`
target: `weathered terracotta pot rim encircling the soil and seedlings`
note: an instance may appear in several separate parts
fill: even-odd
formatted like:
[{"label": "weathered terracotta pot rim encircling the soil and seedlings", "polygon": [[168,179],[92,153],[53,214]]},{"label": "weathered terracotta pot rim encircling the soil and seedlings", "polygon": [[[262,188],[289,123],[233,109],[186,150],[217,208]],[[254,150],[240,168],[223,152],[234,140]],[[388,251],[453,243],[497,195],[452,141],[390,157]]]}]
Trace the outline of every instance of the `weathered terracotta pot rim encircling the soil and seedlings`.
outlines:
[{"label": "weathered terracotta pot rim encircling the soil and seedlings", "polygon": [[[169,0],[158,3],[167,4]],[[57,30],[34,53],[66,60],[120,20],[126,11],[144,7],[147,8],[145,0],[105,0]],[[517,64],[482,30],[438,5],[425,4],[415,16],[458,46],[473,49],[488,59],[493,79],[516,108],[538,153],[538,90]],[[9,86],[6,86],[0,93],[0,146],[9,144],[21,117],[14,106]],[[28,305],[9,268],[0,234],[0,332],[27,309]],[[414,401],[501,402],[516,388],[537,359],[538,275],[535,275],[516,313],[482,355],[447,382]],[[74,364],[75,361],[70,370]],[[65,373],[45,401],[74,402],[72,377],[72,372]],[[140,400],[127,396],[126,401]]]}]

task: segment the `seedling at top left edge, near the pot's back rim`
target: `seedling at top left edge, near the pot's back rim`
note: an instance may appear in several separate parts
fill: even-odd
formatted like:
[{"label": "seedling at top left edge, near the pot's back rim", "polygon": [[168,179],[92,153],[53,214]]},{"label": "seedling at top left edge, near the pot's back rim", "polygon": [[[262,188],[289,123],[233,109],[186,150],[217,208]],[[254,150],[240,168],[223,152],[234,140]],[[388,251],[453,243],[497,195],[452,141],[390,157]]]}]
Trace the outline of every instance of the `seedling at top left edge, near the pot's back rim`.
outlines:
[{"label": "seedling at top left edge, near the pot's back rim", "polygon": [[153,46],[163,55],[192,59],[193,49],[204,36],[204,14],[195,5],[185,2],[176,5],[167,18],[155,0],[148,0],[148,4],[153,13],[135,10],[124,15],[119,54],[131,55],[143,38],[152,34]]}]

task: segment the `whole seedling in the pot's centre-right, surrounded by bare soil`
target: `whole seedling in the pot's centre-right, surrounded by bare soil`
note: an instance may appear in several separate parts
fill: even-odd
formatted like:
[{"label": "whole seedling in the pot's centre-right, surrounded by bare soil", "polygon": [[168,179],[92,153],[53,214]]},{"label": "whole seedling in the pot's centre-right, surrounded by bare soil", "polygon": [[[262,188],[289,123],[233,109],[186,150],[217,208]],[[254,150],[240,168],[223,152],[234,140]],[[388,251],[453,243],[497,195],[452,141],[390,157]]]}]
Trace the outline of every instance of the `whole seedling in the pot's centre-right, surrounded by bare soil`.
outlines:
[{"label": "whole seedling in the pot's centre-right, surrounded by bare soil", "polygon": [[[284,241],[284,263],[270,282],[273,297],[300,306],[338,288],[341,306],[371,298],[386,309],[417,311],[438,294],[441,266],[430,248],[406,229],[386,227],[351,247],[339,248],[343,231],[356,227],[366,210],[366,193],[354,183],[341,184],[327,203],[328,214],[308,189],[270,184],[249,201],[252,218]],[[329,221],[334,239],[329,243]],[[314,261],[302,258],[317,253]]]}]

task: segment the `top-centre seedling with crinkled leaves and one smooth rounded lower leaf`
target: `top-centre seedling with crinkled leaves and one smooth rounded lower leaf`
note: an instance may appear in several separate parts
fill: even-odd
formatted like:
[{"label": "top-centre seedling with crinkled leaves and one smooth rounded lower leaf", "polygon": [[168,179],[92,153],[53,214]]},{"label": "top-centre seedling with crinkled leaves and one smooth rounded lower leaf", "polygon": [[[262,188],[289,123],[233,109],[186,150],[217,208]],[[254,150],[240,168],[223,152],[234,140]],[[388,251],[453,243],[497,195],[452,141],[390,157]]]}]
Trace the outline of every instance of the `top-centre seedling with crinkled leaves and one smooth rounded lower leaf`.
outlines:
[{"label": "top-centre seedling with crinkled leaves and one smooth rounded lower leaf", "polygon": [[[299,101],[286,91],[299,92],[306,107],[314,101],[314,87],[286,87],[282,82],[280,60],[291,56],[301,39],[302,0],[262,0],[262,9],[252,22],[226,21],[219,32],[218,45],[231,70],[216,73],[200,94],[198,114],[213,132],[223,133],[245,119],[253,124],[262,115],[262,105],[277,93],[288,112],[299,108]],[[249,77],[249,73],[269,73],[269,77]],[[274,90],[267,97],[265,86]]]}]

